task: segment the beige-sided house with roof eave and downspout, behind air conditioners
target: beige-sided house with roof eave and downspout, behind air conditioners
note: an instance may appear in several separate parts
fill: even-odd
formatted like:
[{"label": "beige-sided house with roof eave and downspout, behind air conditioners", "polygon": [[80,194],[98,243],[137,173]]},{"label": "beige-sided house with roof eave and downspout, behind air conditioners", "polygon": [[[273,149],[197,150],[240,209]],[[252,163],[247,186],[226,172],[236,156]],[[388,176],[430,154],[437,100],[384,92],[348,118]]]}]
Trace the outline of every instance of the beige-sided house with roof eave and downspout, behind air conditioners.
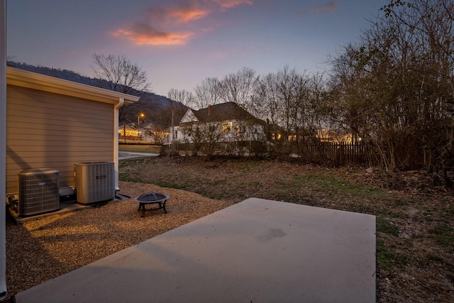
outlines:
[{"label": "beige-sided house with roof eave and downspout, behind air conditioners", "polygon": [[76,162],[114,162],[118,189],[118,109],[139,97],[12,67],[6,83],[6,194],[31,168],[73,187]]}]

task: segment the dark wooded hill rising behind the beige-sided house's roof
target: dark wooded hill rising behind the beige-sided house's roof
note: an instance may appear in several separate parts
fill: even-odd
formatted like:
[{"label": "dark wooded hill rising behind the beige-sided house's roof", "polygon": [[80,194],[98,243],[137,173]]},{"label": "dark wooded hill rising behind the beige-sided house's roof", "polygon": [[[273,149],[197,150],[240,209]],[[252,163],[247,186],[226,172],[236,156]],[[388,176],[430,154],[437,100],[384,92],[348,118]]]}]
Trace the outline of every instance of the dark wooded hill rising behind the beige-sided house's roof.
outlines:
[{"label": "dark wooded hill rising behind the beige-sided house's roof", "polygon": [[[28,70],[29,72],[36,72],[41,75],[56,77],[60,79],[69,80],[72,82],[91,85],[92,87],[109,87],[108,82],[104,79],[96,79],[85,77],[72,72],[71,70],[61,70],[50,67],[28,65],[21,62],[8,61],[7,65],[15,67],[20,70]],[[152,92],[135,92],[136,96],[140,97],[138,102],[128,106],[123,106],[120,113],[120,125],[137,123],[139,114],[145,116],[140,119],[140,123],[153,123],[153,125],[161,128],[166,128],[172,125],[172,104],[176,103],[176,115],[174,125],[176,125],[182,118],[182,115],[189,109],[187,106],[171,100],[167,97],[153,94]]]}]

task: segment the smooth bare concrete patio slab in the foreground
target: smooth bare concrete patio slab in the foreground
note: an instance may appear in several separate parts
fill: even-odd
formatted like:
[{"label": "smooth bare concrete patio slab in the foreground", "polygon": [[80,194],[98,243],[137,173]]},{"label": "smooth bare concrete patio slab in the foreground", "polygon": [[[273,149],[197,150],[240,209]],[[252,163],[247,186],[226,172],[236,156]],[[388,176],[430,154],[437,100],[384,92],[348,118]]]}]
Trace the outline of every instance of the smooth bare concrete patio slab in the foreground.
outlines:
[{"label": "smooth bare concrete patio slab in the foreground", "polygon": [[375,216],[247,199],[16,302],[375,302]]}]

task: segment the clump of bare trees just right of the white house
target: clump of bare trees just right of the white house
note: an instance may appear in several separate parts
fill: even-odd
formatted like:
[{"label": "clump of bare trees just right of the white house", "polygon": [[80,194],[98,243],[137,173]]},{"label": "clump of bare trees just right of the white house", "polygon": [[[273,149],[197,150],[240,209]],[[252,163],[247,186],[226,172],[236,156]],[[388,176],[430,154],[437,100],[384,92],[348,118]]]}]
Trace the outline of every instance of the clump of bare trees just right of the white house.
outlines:
[{"label": "clump of bare trees just right of the white house", "polygon": [[260,77],[252,100],[256,115],[267,121],[267,141],[275,152],[289,152],[290,141],[300,152],[301,140],[314,137],[325,123],[325,86],[323,75],[301,73],[288,65]]}]

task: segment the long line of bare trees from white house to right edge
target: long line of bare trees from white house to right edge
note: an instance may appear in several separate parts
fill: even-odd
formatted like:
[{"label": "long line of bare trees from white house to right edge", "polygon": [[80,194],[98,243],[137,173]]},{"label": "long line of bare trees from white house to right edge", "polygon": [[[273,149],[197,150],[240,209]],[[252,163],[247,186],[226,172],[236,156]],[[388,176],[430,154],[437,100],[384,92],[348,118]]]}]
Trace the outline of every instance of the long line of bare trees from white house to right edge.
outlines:
[{"label": "long line of bare trees from white house to right edge", "polygon": [[370,145],[370,161],[387,170],[443,172],[454,166],[453,16],[451,0],[390,0],[355,43],[327,58],[328,72],[244,67],[168,97],[194,109],[243,106],[275,132],[267,137],[275,153],[301,154],[329,129]]}]

